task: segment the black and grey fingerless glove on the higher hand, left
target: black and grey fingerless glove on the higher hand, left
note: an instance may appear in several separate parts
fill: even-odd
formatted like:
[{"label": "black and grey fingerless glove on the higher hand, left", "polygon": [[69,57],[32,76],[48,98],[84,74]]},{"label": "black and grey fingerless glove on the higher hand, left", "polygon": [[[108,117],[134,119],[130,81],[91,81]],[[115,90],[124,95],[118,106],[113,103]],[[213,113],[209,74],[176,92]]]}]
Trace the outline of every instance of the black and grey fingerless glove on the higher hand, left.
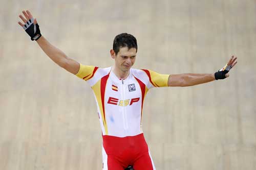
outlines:
[{"label": "black and grey fingerless glove on the higher hand, left", "polygon": [[42,36],[39,30],[39,25],[37,23],[34,25],[34,18],[29,19],[23,28],[31,37],[32,41],[38,40]]}]

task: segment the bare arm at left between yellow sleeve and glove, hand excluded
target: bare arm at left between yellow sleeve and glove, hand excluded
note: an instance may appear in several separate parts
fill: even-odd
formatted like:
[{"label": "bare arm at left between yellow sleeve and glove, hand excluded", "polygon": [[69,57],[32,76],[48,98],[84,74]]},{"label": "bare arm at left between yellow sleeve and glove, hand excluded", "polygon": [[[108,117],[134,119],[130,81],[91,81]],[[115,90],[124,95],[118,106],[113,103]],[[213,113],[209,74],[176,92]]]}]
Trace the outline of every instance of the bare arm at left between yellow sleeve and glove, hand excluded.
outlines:
[{"label": "bare arm at left between yellow sleeve and glove, hand excluded", "polygon": [[44,36],[41,36],[36,42],[46,53],[46,55],[60,67],[66,69],[74,75],[78,73],[80,64],[77,61],[66,56],[65,53],[63,53],[57,47],[47,41]]}]

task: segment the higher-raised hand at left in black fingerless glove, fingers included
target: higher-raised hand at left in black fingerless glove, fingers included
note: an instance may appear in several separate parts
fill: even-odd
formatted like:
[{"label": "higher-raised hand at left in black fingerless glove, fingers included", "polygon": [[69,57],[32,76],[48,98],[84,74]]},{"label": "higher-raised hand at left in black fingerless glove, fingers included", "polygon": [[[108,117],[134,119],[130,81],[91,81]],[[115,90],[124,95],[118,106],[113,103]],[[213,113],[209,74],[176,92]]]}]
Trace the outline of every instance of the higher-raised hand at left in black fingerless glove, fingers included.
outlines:
[{"label": "higher-raised hand at left in black fingerless glove, fingers included", "polygon": [[19,15],[19,18],[22,19],[24,23],[19,21],[18,24],[22,26],[23,29],[28,33],[32,41],[38,40],[41,37],[41,33],[36,19],[33,18],[29,10],[22,11],[22,13],[24,14],[25,18],[23,15]]}]

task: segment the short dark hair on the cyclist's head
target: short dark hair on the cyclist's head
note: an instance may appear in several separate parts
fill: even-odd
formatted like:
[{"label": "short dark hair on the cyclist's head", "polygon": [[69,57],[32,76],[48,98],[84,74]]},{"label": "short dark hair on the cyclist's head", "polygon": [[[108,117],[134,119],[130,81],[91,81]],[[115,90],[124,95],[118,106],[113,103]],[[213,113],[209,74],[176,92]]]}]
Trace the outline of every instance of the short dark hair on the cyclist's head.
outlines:
[{"label": "short dark hair on the cyclist's head", "polygon": [[128,50],[131,48],[136,48],[137,53],[138,46],[136,38],[133,35],[127,33],[117,35],[113,42],[113,50],[116,55],[121,47],[128,47]]}]

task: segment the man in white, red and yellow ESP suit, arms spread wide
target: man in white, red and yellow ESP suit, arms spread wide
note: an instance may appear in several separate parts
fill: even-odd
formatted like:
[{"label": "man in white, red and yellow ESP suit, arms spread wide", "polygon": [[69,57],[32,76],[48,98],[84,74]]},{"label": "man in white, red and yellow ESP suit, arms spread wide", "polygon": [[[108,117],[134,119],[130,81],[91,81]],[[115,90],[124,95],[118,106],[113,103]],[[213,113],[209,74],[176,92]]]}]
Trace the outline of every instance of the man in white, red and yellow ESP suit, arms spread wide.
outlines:
[{"label": "man in white, red and yellow ESP suit, arms spread wide", "polygon": [[193,86],[228,77],[237,63],[231,57],[215,74],[163,75],[148,69],[134,69],[137,40],[123,33],[115,37],[110,51],[115,64],[108,68],[82,65],[50,44],[41,36],[36,19],[27,10],[18,22],[42,50],[59,66],[87,81],[92,87],[103,138],[103,169],[123,170],[132,165],[135,170],[155,169],[143,136],[141,118],[143,101],[153,87]]}]

